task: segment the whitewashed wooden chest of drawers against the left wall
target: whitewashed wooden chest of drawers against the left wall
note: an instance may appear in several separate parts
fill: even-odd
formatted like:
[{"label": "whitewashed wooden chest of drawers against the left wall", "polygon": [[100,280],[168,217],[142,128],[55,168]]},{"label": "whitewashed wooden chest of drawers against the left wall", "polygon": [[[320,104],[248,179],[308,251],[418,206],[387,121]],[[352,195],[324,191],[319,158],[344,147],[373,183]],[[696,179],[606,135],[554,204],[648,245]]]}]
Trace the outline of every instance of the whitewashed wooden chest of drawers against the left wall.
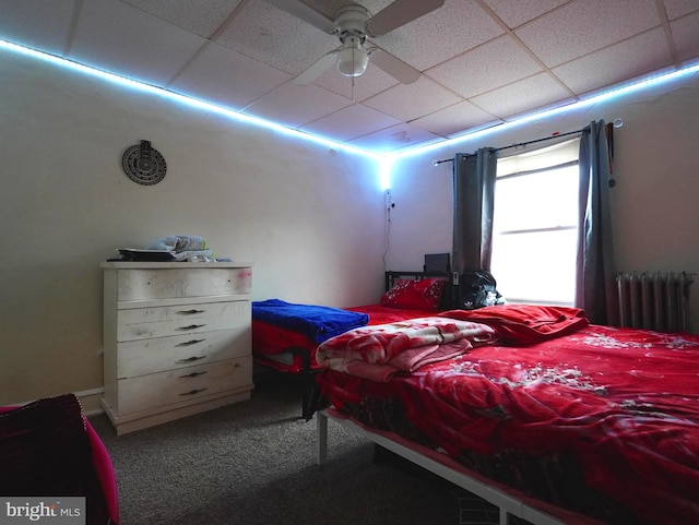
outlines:
[{"label": "whitewashed wooden chest of drawers against the left wall", "polygon": [[102,267],[102,406],[118,434],[250,398],[250,264]]}]

